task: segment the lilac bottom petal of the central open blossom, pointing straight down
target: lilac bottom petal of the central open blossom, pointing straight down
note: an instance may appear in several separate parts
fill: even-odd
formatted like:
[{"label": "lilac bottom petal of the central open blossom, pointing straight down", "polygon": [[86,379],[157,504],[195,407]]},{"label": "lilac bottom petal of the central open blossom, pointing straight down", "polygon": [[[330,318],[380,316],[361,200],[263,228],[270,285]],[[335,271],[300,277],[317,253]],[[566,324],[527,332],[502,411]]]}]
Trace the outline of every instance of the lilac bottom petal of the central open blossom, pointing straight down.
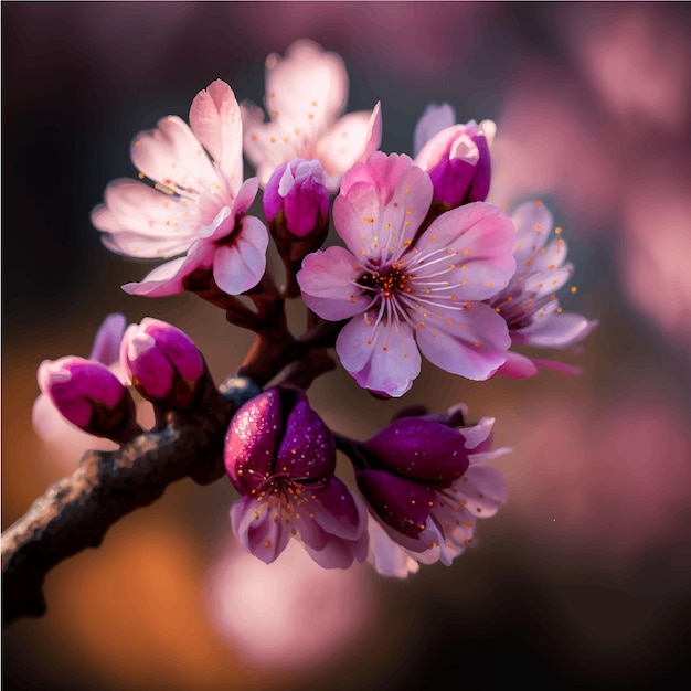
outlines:
[{"label": "lilac bottom petal of the central open blossom, pointing straight down", "polygon": [[419,352],[407,325],[373,328],[375,321],[372,311],[351,319],[338,336],[336,352],[360,386],[398,397],[419,374]]}]

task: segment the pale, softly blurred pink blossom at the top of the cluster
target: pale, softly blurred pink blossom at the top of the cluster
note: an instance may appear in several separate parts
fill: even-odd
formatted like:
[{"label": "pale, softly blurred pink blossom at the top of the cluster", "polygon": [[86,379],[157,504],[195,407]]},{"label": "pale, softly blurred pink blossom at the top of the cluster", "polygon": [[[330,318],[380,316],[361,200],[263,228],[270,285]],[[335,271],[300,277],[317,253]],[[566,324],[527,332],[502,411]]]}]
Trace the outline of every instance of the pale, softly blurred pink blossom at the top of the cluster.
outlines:
[{"label": "pale, softly blurred pink blossom at the top of the cluster", "polygon": [[285,57],[266,59],[266,96],[262,108],[242,104],[245,155],[262,187],[280,163],[317,159],[330,191],[338,190],[353,163],[376,151],[382,140],[380,106],[372,113],[339,117],[348,102],[348,74],[342,59],[317,43],[296,41]]}]

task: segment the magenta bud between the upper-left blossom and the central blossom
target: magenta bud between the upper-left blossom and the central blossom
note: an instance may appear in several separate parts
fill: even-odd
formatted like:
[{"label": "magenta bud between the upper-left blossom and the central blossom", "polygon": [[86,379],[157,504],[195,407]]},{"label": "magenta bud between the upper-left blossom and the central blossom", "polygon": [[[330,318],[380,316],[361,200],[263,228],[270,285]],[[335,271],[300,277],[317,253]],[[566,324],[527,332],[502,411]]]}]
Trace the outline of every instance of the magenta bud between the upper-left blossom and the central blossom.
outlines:
[{"label": "magenta bud between the upper-left blossom and the central blossom", "polygon": [[264,190],[264,214],[281,242],[326,232],[329,190],[321,163],[298,158],[278,166]]}]

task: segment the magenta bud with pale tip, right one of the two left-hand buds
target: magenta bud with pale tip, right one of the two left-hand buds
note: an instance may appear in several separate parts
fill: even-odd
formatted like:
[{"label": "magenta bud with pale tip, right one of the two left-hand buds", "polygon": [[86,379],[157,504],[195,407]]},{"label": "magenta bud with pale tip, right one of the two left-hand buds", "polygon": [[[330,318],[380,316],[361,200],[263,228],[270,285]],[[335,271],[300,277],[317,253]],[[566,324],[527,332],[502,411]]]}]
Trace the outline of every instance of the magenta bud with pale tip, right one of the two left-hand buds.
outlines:
[{"label": "magenta bud with pale tip, right one of the two left-hand buds", "polygon": [[180,329],[146,317],[125,331],[120,362],[137,391],[160,407],[194,407],[206,365],[192,339]]}]

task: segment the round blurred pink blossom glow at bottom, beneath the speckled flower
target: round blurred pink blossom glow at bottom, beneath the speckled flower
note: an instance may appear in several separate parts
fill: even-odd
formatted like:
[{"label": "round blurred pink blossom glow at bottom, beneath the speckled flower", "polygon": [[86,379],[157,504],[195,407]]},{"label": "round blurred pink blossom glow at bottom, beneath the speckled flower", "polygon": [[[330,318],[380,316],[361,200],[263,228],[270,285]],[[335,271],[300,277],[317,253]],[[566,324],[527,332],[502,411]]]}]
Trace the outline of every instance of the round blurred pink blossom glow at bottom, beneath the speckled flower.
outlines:
[{"label": "round blurred pink blossom glow at bottom, beneath the speckled flower", "polygon": [[309,670],[331,661],[372,621],[366,564],[326,570],[290,541],[270,566],[234,542],[208,575],[212,623],[262,668]]}]

